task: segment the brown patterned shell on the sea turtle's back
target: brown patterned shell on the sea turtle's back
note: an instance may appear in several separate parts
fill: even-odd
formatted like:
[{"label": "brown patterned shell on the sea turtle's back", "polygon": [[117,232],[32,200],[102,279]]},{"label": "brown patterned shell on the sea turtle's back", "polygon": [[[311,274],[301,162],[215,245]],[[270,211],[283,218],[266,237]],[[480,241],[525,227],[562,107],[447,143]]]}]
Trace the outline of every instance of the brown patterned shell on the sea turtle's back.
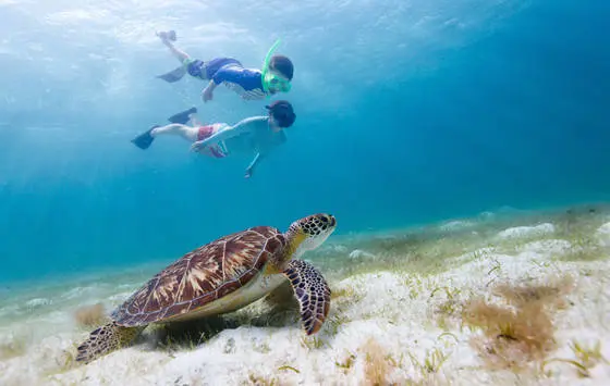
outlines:
[{"label": "brown patterned shell on the sea turtle's back", "polygon": [[258,274],[286,241],[257,226],[199,247],[159,272],[112,314],[122,326],[179,316],[231,294]]}]

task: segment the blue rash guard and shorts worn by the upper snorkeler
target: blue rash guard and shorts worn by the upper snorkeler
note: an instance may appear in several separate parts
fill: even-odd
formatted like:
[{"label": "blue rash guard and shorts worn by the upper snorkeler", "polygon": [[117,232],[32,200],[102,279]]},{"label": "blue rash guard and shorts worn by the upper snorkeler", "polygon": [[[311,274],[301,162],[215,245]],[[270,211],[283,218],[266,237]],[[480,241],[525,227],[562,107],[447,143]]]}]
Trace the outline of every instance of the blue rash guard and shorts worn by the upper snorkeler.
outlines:
[{"label": "blue rash guard and shorts worn by the upper snorkeler", "polygon": [[244,69],[233,58],[216,58],[209,62],[193,60],[186,64],[188,74],[205,80],[213,80],[217,85],[237,92],[243,99],[264,99],[263,74],[259,70]]}]

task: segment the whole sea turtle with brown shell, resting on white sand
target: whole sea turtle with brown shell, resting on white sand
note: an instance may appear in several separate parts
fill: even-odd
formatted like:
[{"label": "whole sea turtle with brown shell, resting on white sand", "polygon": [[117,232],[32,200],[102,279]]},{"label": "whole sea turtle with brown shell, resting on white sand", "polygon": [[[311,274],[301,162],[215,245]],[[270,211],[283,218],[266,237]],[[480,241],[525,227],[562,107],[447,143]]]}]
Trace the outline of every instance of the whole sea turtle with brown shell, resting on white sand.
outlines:
[{"label": "whole sea turtle with brown shell, resting on white sand", "polygon": [[279,287],[288,278],[307,335],[317,333],[330,309],[330,288],[320,272],[298,260],[334,231],[334,216],[313,214],[285,233],[256,226],[199,247],[167,266],[111,314],[111,322],[78,346],[88,363],[130,345],[150,323],[168,323],[232,312]]}]

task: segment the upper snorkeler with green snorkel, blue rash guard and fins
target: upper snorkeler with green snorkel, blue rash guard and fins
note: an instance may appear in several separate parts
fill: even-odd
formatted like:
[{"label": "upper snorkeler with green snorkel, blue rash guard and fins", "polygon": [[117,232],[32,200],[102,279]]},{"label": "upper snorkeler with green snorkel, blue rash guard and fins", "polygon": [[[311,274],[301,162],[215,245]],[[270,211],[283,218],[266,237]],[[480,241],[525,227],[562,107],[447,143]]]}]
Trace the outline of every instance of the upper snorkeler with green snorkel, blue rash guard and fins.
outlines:
[{"label": "upper snorkeler with green snorkel, blue rash guard and fins", "polygon": [[207,62],[192,59],[174,47],[172,41],[175,41],[176,37],[173,30],[157,33],[157,36],[182,63],[180,67],[158,77],[174,83],[188,73],[202,80],[209,80],[208,86],[202,91],[204,102],[213,98],[213,89],[221,84],[246,100],[264,99],[277,92],[290,91],[290,82],[294,73],[291,60],[284,55],[271,57],[279,41],[269,50],[263,70],[255,70],[244,69],[242,63],[233,58],[215,58]]}]

